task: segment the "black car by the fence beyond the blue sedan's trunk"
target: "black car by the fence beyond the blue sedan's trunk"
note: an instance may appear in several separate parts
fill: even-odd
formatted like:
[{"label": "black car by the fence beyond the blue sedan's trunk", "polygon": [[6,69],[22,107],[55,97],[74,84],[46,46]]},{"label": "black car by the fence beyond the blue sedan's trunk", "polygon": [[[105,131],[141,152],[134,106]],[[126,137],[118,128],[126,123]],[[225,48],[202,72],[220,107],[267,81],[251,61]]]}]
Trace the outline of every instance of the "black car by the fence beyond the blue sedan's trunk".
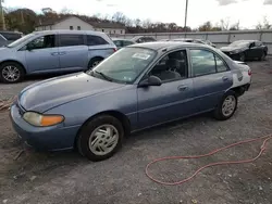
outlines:
[{"label": "black car by the fence beyond the blue sedan's trunk", "polygon": [[268,47],[258,40],[237,40],[221,48],[221,51],[233,60],[242,62],[255,59],[263,61],[268,55]]}]

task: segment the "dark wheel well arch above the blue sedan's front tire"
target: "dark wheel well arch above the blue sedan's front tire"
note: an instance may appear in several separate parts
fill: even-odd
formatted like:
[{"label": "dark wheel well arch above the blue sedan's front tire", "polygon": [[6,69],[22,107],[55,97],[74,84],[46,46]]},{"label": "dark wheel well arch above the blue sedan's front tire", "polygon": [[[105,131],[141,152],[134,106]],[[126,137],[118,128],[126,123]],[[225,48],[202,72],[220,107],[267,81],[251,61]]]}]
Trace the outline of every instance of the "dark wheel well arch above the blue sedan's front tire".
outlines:
[{"label": "dark wheel well arch above the blue sedan's front tire", "polygon": [[95,117],[99,116],[99,115],[111,115],[113,117],[115,117],[116,119],[119,119],[124,128],[124,131],[125,131],[125,136],[127,136],[129,132],[131,132],[131,122],[129,119],[123,114],[123,113],[120,113],[118,111],[104,111],[104,112],[101,112],[101,113],[98,113],[96,115],[92,115],[91,117],[89,117],[83,125],[82,127],[79,128],[77,135],[76,135],[76,138],[75,138],[75,141],[74,141],[74,146],[76,146],[76,142],[77,142],[77,138],[83,129],[83,127],[88,124],[91,119],[94,119]]}]

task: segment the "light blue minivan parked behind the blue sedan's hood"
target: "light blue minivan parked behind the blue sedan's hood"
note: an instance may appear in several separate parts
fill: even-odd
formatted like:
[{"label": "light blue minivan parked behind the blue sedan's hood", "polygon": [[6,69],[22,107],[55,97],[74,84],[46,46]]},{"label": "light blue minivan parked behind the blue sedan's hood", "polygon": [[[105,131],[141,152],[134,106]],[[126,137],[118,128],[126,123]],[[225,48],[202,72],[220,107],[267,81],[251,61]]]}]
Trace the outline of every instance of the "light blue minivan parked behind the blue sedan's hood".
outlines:
[{"label": "light blue minivan parked behind the blue sedan's hood", "polygon": [[103,33],[35,31],[0,49],[0,81],[17,82],[30,74],[92,68],[115,51],[115,44]]}]

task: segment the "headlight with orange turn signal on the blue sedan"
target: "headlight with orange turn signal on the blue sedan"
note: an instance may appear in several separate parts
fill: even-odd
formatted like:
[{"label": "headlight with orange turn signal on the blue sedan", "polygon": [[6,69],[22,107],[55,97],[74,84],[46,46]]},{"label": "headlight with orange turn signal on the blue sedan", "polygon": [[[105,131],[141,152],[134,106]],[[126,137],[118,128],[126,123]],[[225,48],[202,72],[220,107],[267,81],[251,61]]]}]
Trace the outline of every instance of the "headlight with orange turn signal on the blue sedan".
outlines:
[{"label": "headlight with orange turn signal on the blue sedan", "polygon": [[62,115],[41,115],[35,112],[26,112],[23,118],[34,125],[39,127],[48,127],[60,124],[64,120]]}]

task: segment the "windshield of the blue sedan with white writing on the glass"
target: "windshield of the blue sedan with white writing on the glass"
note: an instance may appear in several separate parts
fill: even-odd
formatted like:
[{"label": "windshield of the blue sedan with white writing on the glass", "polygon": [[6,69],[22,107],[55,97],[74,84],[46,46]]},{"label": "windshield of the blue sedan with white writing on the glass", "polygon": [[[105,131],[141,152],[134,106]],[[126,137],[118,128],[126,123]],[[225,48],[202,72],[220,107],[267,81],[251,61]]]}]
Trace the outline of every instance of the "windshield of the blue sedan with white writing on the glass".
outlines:
[{"label": "windshield of the blue sedan with white writing on the glass", "polygon": [[90,74],[106,80],[133,84],[156,55],[151,49],[126,47],[102,61]]}]

